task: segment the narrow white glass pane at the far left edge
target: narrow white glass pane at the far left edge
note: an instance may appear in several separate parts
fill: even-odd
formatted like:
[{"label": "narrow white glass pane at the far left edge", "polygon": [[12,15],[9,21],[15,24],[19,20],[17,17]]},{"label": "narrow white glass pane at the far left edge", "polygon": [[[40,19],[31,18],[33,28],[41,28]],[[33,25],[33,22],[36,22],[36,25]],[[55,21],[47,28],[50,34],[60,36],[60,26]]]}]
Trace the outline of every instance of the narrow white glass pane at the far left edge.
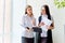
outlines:
[{"label": "narrow white glass pane at the far left edge", "polygon": [[0,34],[3,32],[3,0],[0,0]]}]

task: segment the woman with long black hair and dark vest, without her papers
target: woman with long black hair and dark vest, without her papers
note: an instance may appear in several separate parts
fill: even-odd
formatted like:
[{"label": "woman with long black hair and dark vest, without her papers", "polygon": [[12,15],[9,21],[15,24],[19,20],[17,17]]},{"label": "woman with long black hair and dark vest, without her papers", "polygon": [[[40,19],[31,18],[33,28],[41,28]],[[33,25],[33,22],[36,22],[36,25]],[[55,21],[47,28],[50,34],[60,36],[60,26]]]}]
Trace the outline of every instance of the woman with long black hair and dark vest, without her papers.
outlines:
[{"label": "woman with long black hair and dark vest, without her papers", "polygon": [[41,16],[39,16],[39,27],[44,26],[44,23],[41,22],[42,17],[47,17],[48,19],[52,20],[52,24],[50,26],[46,26],[46,32],[43,31],[41,33],[41,43],[53,43],[51,30],[54,28],[54,22],[53,22],[52,16],[50,15],[48,5],[42,5],[41,8]]}]

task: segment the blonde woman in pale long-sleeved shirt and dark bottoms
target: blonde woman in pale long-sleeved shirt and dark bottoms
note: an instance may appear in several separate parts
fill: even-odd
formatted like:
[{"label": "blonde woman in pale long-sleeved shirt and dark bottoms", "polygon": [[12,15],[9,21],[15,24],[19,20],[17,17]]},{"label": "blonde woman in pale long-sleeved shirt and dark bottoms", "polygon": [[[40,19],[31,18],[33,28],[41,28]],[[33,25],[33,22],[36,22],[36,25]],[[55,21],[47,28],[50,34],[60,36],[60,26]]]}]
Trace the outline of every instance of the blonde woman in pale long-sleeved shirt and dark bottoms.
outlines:
[{"label": "blonde woman in pale long-sleeved shirt and dark bottoms", "polygon": [[30,5],[26,6],[25,15],[22,18],[22,43],[34,43],[34,31],[31,28],[32,26],[36,26],[36,22]]}]

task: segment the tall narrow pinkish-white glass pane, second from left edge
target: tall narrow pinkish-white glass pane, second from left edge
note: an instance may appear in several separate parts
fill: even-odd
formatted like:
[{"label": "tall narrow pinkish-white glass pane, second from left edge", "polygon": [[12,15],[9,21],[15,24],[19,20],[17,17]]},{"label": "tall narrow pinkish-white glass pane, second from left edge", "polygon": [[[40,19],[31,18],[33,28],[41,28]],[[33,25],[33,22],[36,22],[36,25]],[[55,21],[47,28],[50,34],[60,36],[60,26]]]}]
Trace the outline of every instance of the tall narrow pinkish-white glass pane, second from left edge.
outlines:
[{"label": "tall narrow pinkish-white glass pane, second from left edge", "polygon": [[11,0],[5,0],[4,33],[10,33],[10,30],[11,30]]}]

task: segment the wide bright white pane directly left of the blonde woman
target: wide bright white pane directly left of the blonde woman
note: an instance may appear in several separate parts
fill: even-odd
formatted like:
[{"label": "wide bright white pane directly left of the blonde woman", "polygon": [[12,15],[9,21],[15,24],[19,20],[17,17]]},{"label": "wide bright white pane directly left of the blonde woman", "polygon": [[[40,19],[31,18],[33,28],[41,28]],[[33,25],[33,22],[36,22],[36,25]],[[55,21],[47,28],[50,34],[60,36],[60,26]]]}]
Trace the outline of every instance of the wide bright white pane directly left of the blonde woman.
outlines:
[{"label": "wide bright white pane directly left of the blonde woman", "polygon": [[21,41],[21,18],[24,15],[26,0],[12,0],[12,43],[22,43]]}]

